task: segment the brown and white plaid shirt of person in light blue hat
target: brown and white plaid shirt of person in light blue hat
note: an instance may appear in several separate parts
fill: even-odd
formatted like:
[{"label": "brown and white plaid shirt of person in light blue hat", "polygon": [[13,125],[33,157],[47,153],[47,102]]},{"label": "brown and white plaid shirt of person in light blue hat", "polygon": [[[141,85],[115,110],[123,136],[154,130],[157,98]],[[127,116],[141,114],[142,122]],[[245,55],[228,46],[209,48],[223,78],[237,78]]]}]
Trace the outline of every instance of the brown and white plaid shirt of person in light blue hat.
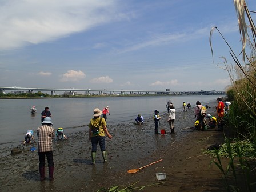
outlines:
[{"label": "brown and white plaid shirt of person in light blue hat", "polygon": [[53,150],[53,138],[54,138],[53,126],[42,125],[37,129],[38,137],[38,152],[47,152]]}]

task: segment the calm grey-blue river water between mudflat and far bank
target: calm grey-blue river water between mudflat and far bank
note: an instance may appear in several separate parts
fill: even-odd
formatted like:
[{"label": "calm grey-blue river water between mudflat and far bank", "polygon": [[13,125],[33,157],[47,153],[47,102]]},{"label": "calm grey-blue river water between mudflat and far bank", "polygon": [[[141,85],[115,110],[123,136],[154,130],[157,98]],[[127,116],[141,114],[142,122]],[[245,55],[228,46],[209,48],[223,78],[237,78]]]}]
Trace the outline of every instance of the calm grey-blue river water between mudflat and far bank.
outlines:
[{"label": "calm grey-blue river water between mudflat and far bank", "polygon": [[[183,101],[196,101],[203,105],[216,100],[220,95],[161,96],[161,97],[115,97],[115,98],[63,98],[63,99],[0,99],[0,147],[13,142],[22,142],[27,130],[36,131],[41,126],[41,112],[49,107],[55,129],[65,128],[65,133],[84,130],[93,115],[93,109],[109,106],[107,123],[121,123],[135,119],[138,114],[149,118],[154,110],[166,113],[166,103],[171,100],[176,110],[182,110]],[[222,95],[221,95],[222,96]],[[30,114],[35,105],[37,113]],[[37,137],[35,137],[36,139]]]}]

